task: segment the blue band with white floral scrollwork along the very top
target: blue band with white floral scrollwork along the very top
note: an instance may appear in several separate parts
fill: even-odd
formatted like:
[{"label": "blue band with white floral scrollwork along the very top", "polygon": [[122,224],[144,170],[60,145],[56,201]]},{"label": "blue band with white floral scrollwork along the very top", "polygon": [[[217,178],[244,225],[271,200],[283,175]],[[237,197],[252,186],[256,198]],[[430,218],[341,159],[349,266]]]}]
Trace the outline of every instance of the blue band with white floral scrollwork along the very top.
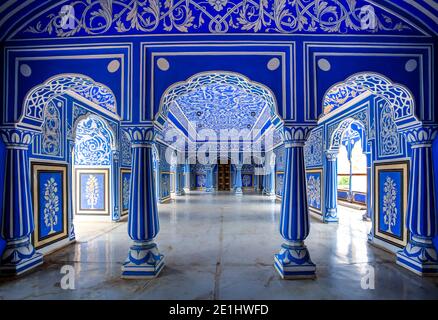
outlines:
[{"label": "blue band with white floral scrollwork along the very top", "polygon": [[[73,28],[63,29],[59,7],[45,19],[25,29],[26,33],[71,37],[78,33],[100,35],[111,30],[125,32],[189,32],[207,29],[210,33],[238,31],[274,33],[393,33],[411,29],[395,16],[375,11],[373,28],[362,28],[361,4],[357,1],[309,0],[208,0],[217,14],[199,0],[77,0]],[[366,3],[366,2],[362,2]],[[224,7],[228,6],[225,10]],[[219,11],[224,11],[219,13]]]}]

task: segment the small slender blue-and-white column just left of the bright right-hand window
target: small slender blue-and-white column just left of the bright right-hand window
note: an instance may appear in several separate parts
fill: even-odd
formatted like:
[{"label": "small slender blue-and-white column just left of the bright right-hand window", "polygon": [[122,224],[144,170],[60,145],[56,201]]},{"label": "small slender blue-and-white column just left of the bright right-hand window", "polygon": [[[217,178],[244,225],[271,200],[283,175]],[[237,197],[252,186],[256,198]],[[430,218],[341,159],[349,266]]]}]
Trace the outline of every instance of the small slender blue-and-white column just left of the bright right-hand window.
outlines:
[{"label": "small slender blue-and-white column just left of the bright right-hand window", "polygon": [[338,222],[338,150],[328,150],[326,155],[325,178],[325,223]]}]

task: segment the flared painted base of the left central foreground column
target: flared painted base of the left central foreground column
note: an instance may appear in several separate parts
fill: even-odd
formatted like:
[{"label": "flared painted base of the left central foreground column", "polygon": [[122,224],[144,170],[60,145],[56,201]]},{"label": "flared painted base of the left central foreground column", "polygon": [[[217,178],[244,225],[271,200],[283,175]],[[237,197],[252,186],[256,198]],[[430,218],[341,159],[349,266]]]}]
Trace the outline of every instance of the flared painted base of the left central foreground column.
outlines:
[{"label": "flared painted base of the left central foreground column", "polygon": [[153,241],[135,241],[122,266],[122,279],[153,279],[164,267],[164,256]]}]

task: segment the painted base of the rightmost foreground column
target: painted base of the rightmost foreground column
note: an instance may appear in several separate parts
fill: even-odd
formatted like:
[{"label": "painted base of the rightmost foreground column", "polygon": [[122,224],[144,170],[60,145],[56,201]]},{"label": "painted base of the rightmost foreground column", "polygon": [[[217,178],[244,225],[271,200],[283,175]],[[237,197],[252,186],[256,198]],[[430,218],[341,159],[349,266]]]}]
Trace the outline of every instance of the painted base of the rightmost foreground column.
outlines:
[{"label": "painted base of the rightmost foreground column", "polygon": [[438,255],[432,239],[412,236],[397,252],[397,264],[420,276],[438,276]]}]

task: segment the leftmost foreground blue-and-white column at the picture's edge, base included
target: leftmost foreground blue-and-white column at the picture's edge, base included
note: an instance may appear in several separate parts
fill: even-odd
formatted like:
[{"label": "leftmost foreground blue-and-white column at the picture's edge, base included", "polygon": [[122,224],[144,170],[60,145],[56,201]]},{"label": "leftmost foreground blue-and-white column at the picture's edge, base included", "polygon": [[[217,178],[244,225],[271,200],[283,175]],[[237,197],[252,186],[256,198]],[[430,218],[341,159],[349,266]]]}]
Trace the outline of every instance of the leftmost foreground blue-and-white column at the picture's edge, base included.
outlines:
[{"label": "leftmost foreground blue-and-white column at the picture's edge, base included", "polygon": [[43,263],[43,256],[30,242],[34,231],[29,172],[29,146],[33,133],[3,129],[6,145],[5,186],[1,237],[6,247],[1,257],[0,275],[16,276]]}]

